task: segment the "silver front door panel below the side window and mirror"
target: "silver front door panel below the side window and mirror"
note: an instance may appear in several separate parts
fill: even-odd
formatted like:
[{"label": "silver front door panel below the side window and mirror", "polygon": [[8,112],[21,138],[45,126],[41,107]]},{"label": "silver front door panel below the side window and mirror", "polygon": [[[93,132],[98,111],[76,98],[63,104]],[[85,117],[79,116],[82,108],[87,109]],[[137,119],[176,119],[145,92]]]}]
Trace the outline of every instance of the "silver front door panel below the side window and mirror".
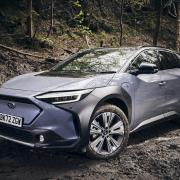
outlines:
[{"label": "silver front door panel below the side window and mirror", "polygon": [[164,118],[165,94],[161,72],[140,74],[134,78],[133,129]]}]

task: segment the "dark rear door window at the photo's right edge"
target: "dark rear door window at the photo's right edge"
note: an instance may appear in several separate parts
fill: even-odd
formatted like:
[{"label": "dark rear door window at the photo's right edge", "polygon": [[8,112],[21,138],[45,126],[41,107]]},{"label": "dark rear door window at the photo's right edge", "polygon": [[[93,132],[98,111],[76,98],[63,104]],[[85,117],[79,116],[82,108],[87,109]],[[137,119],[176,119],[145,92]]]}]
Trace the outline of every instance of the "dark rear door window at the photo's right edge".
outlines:
[{"label": "dark rear door window at the photo's right edge", "polygon": [[159,51],[160,70],[180,68],[180,59],[173,53]]}]

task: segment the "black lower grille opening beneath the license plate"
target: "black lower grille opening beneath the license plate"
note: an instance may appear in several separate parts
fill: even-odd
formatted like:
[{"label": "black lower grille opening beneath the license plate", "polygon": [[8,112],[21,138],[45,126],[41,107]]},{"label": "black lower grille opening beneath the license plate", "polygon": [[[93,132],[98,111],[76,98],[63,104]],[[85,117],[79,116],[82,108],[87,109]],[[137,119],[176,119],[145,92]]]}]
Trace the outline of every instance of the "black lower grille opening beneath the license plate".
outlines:
[{"label": "black lower grille opening beneath the license plate", "polygon": [[9,127],[3,124],[0,124],[0,135],[28,143],[32,143],[34,141],[33,135],[30,132],[16,129],[14,127]]}]

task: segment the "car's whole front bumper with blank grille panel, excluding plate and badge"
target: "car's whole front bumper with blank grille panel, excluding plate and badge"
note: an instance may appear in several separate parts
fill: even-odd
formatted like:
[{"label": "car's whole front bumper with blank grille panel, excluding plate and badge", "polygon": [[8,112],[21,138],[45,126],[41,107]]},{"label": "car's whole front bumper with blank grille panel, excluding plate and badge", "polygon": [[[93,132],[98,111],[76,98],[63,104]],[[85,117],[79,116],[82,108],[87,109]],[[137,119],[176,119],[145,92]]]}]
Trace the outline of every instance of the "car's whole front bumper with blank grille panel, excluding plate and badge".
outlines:
[{"label": "car's whole front bumper with blank grille panel, excluding plate and badge", "polygon": [[[8,103],[16,104],[15,109]],[[44,103],[35,98],[0,95],[0,112],[24,118],[23,127],[0,123],[0,137],[36,148],[75,149],[80,140],[76,112]],[[44,141],[40,141],[43,136]]]}]

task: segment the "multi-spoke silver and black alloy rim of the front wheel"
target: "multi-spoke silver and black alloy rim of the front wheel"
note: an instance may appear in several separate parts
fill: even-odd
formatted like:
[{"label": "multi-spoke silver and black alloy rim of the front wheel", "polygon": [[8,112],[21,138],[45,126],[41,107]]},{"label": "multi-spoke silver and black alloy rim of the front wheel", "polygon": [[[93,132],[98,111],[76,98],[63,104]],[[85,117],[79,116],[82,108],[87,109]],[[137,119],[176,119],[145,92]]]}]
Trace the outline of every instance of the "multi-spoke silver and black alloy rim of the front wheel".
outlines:
[{"label": "multi-spoke silver and black alloy rim of the front wheel", "polygon": [[103,112],[91,123],[89,145],[97,154],[110,155],[120,147],[124,134],[121,118],[113,112]]}]

